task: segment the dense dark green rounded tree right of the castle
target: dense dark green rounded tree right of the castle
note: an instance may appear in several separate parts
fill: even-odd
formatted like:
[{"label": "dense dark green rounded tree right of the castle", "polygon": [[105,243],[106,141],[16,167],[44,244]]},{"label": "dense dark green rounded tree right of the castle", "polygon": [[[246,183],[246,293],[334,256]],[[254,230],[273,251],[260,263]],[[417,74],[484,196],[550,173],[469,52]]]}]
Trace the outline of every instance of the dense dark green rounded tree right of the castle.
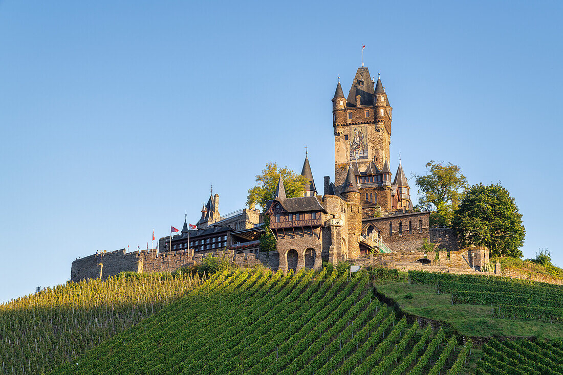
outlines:
[{"label": "dense dark green rounded tree right of the castle", "polygon": [[514,198],[499,184],[471,186],[454,212],[453,227],[464,246],[489,248],[490,256],[521,257],[526,230]]}]

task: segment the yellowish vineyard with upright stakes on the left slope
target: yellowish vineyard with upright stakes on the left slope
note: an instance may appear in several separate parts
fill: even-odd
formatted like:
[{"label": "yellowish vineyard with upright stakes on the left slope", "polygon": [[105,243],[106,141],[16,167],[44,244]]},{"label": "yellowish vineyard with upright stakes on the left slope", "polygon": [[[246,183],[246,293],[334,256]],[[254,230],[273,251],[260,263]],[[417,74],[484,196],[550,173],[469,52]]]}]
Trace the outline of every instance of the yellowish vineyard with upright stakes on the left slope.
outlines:
[{"label": "yellowish vineyard with upright stakes on the left slope", "polygon": [[0,374],[42,373],[156,314],[200,283],[170,274],[69,283],[0,305]]}]

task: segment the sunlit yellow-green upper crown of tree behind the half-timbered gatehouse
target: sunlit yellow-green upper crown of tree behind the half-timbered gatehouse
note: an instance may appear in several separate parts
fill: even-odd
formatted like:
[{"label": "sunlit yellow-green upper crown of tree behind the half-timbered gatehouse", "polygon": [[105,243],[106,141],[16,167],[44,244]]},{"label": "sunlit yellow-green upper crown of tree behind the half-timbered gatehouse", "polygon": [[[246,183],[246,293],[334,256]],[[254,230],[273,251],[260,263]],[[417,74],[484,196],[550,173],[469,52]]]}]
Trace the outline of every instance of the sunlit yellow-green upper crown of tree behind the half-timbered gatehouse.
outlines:
[{"label": "sunlit yellow-green upper crown of tree behind the half-timbered gatehouse", "polygon": [[283,167],[278,170],[278,164],[267,163],[266,168],[262,170],[262,174],[256,176],[256,182],[258,182],[258,184],[248,190],[248,208],[253,209],[255,204],[259,204],[262,207],[262,211],[266,211],[267,202],[274,198],[280,173],[282,173],[284,182],[285,196],[287,198],[302,197],[307,182],[305,176],[293,172],[292,169],[288,167]]}]

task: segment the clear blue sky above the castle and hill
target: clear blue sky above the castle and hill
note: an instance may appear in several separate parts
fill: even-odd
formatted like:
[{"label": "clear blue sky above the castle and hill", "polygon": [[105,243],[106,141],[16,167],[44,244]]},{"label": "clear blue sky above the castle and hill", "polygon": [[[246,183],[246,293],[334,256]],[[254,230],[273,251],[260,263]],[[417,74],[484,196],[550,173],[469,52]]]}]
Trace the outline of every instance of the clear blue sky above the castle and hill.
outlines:
[{"label": "clear blue sky above the castle and hill", "polygon": [[[349,5],[349,6],[348,6]],[[558,230],[561,2],[0,1],[0,301],[97,249],[244,207],[267,162],[334,175],[330,99],[361,64],[394,107],[391,168],[501,182],[525,257]],[[412,181],[412,180],[411,180]],[[414,186],[414,182],[411,183]],[[414,191],[415,189],[413,189]],[[416,199],[416,197],[414,197]]]}]

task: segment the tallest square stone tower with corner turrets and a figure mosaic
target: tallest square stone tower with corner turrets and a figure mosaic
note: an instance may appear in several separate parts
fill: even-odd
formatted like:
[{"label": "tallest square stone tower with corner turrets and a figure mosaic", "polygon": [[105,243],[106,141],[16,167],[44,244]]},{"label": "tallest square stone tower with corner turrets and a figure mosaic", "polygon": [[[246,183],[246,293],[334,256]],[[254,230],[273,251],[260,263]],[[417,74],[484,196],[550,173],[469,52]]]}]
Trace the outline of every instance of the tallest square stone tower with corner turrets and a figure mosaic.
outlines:
[{"label": "tallest square stone tower with corner turrets and a figure mosaic", "polygon": [[368,68],[358,68],[347,98],[338,81],[332,99],[336,186],[346,180],[350,162],[359,172],[383,169],[389,160],[391,110],[381,79],[373,81]]}]

